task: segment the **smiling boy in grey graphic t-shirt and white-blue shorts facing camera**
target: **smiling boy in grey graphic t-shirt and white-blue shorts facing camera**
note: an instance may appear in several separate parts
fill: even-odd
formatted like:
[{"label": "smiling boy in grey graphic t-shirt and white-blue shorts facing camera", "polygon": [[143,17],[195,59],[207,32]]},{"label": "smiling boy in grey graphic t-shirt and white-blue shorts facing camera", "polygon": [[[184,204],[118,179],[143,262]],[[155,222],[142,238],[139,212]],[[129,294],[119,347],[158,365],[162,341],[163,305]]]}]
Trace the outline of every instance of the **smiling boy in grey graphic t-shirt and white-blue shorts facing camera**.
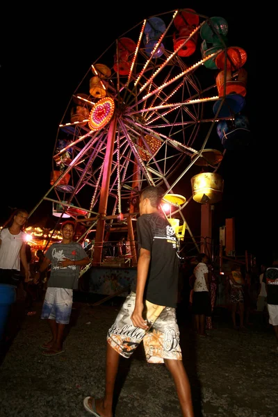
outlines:
[{"label": "smiling boy in grey graphic t-shirt and white-blue shorts facing camera", "polygon": [[61,227],[63,240],[53,243],[45,253],[45,259],[35,274],[35,281],[51,263],[51,272],[47,284],[42,319],[47,319],[51,329],[51,340],[42,345],[46,356],[54,356],[63,350],[65,325],[70,322],[72,313],[73,290],[78,288],[80,268],[90,263],[80,243],[74,242],[74,222],[65,221]]}]

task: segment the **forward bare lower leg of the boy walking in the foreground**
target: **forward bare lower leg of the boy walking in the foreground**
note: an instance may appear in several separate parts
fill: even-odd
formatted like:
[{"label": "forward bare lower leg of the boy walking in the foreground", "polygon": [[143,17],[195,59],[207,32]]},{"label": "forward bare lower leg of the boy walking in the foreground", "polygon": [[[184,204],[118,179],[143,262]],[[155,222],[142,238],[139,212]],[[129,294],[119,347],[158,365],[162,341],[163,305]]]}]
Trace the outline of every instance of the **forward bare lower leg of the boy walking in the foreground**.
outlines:
[{"label": "forward bare lower leg of the boy walking in the foreground", "polygon": [[174,379],[183,417],[194,417],[191,389],[183,362],[164,359],[164,363]]}]

